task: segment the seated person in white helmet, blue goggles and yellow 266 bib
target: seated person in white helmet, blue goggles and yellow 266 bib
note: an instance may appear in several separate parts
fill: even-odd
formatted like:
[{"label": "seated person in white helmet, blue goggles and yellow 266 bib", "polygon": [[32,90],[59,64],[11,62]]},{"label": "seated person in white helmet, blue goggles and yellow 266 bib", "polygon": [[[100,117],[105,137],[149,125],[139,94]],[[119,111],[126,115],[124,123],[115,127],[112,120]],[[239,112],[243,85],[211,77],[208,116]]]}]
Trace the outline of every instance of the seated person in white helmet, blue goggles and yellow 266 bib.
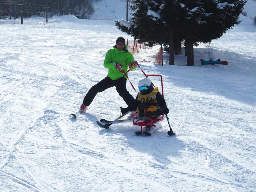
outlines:
[{"label": "seated person in white helmet, blue goggles and yellow 266 bib", "polygon": [[153,83],[150,79],[141,79],[138,86],[140,92],[135,101],[127,108],[120,108],[122,114],[132,110],[137,110],[139,117],[158,117],[163,113],[169,113],[165,99],[158,92],[158,87],[153,87]]}]

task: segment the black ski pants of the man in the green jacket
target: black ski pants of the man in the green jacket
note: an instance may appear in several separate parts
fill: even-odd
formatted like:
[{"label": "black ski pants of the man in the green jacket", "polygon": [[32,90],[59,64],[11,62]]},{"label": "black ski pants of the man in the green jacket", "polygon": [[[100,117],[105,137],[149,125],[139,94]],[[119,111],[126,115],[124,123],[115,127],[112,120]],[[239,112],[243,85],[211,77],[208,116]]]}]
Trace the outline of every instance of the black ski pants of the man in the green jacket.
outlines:
[{"label": "black ski pants of the man in the green jacket", "polygon": [[132,102],[134,102],[135,99],[132,97],[129,91],[127,91],[126,81],[127,80],[124,77],[116,80],[105,77],[105,79],[102,79],[99,83],[91,87],[91,89],[88,91],[83,99],[83,104],[85,106],[89,106],[91,102],[93,102],[93,99],[97,95],[97,93],[105,91],[106,89],[114,86],[116,87],[118,94],[124,99],[124,102],[127,105],[131,104]]}]

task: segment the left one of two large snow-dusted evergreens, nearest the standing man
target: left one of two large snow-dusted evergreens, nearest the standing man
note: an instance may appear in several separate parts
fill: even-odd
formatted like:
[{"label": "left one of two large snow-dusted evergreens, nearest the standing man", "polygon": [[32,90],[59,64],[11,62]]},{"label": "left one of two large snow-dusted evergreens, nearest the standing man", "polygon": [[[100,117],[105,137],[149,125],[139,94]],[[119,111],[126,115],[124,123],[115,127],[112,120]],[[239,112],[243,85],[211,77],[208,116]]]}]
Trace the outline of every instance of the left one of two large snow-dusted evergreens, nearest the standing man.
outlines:
[{"label": "left one of two large snow-dusted evergreens, nearest the standing man", "polygon": [[[169,8],[168,11],[166,6]],[[118,21],[116,26],[138,39],[138,42],[147,42],[148,46],[159,44],[160,41],[168,45],[170,47],[169,64],[174,65],[174,34],[178,24],[175,19],[178,14],[177,6],[180,7],[175,0],[135,0],[131,6],[134,11],[133,27],[128,30]]]}]

